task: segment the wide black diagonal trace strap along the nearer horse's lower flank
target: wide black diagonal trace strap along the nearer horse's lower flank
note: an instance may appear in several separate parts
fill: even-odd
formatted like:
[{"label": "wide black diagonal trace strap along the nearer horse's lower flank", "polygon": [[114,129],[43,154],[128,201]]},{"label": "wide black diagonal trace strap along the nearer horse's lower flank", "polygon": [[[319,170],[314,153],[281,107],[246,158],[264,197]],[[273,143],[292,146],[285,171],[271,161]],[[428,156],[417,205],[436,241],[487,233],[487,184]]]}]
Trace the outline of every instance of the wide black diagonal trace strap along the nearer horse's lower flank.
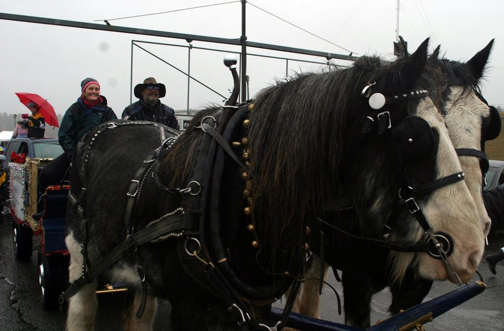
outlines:
[{"label": "wide black diagonal trace strap along the nearer horse's lower flank", "polygon": [[[99,274],[105,271],[105,269],[110,267],[115,262],[119,261],[121,258],[127,256],[131,252],[131,250],[135,249],[136,247],[139,247],[168,234],[172,235],[168,235],[167,238],[178,238],[182,236],[184,230],[192,229],[194,227],[195,223],[193,222],[192,218],[186,217],[183,211],[182,213],[177,215],[165,215],[159,220],[159,222],[128,236],[125,240],[115,246],[101,260],[97,261],[91,268],[87,270],[86,278],[90,281],[93,281]],[[87,285],[88,281],[86,280],[86,278],[80,277],[74,283],[72,283],[67,291],[60,295],[60,302],[62,302],[62,300],[70,299],[81,288]]]}]

